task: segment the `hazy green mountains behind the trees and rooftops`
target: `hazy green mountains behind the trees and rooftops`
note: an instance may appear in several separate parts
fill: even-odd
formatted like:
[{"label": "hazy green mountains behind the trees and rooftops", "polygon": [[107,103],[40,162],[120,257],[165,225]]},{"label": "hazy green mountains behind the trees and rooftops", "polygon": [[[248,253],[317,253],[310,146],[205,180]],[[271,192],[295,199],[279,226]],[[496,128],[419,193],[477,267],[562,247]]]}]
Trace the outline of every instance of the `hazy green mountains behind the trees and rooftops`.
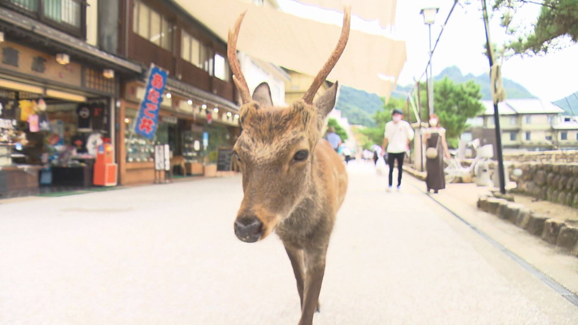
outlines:
[{"label": "hazy green mountains behind the trees and rooftops", "polygon": [[[492,99],[490,94],[490,76],[486,73],[479,76],[474,76],[472,73],[462,75],[460,68],[454,65],[443,69],[433,80],[442,80],[444,77],[448,77],[454,83],[465,83],[473,80],[480,85],[481,99]],[[502,78],[502,83],[506,91],[506,98],[535,98],[524,86],[511,79]],[[391,93],[391,97],[405,99],[412,89],[413,85],[398,85]],[[561,101],[565,100],[561,99]],[[576,104],[572,104],[572,108],[578,107],[578,98],[576,98],[575,101]],[[555,102],[555,104],[564,108],[564,106],[558,104],[558,102]],[[566,104],[566,106],[568,105]],[[376,94],[369,94],[363,90],[341,86],[335,107],[342,111],[342,116],[347,117],[350,124],[361,124],[373,127],[375,126],[373,114],[383,107],[383,99]]]}]

